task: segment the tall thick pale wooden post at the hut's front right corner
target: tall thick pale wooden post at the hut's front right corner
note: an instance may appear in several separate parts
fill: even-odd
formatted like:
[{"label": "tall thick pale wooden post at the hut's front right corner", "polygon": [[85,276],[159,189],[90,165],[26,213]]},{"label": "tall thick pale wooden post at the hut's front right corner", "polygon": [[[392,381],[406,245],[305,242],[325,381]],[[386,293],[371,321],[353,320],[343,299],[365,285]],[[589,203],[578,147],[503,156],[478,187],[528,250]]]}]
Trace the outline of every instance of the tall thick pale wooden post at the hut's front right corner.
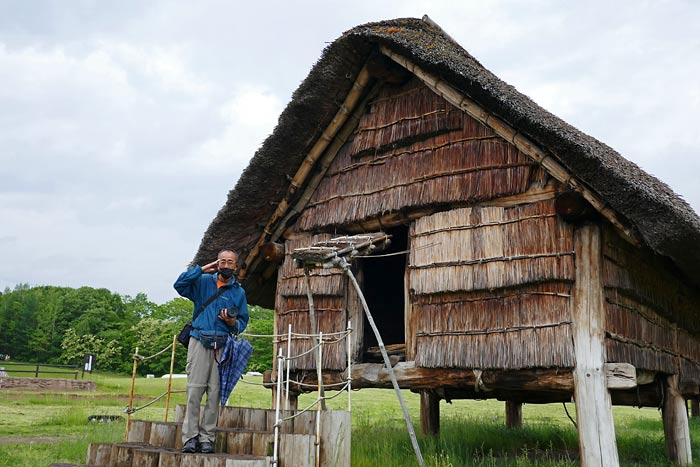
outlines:
[{"label": "tall thick pale wooden post at the hut's front right corner", "polygon": [[583,225],[574,233],[576,282],[572,291],[576,356],[574,397],[582,467],[617,467],[612,402],[604,371],[605,302],[600,228]]}]

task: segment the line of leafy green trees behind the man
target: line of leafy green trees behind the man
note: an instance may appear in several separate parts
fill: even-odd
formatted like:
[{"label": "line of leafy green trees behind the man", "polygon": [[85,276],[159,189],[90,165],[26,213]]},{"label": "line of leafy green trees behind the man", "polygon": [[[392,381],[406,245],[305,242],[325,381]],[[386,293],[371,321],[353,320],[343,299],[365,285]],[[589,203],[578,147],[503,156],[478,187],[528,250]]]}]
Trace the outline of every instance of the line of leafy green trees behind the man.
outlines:
[{"label": "line of leafy green trees behind the man", "polygon": [[[174,298],[161,305],[146,294],[119,295],[107,289],[17,285],[0,292],[0,353],[30,363],[80,365],[96,355],[96,369],[129,373],[134,350],[152,356],[173,341],[192,316],[192,302]],[[272,334],[273,311],[249,306],[247,332]],[[272,340],[250,338],[249,371],[272,367]],[[139,362],[139,374],[170,371],[171,352]],[[185,369],[187,350],[176,345],[176,373]]]}]

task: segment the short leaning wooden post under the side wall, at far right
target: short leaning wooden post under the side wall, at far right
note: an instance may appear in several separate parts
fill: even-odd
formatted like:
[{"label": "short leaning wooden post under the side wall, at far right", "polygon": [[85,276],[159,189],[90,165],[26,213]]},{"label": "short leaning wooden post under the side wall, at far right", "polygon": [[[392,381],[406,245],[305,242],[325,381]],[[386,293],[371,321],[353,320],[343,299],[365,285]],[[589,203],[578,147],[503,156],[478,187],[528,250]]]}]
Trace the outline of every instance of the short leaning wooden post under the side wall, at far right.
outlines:
[{"label": "short leaning wooden post under the side wall, at far right", "polygon": [[676,465],[690,465],[688,406],[678,388],[678,375],[669,375],[664,381],[664,404],[661,408],[666,437],[666,454]]}]

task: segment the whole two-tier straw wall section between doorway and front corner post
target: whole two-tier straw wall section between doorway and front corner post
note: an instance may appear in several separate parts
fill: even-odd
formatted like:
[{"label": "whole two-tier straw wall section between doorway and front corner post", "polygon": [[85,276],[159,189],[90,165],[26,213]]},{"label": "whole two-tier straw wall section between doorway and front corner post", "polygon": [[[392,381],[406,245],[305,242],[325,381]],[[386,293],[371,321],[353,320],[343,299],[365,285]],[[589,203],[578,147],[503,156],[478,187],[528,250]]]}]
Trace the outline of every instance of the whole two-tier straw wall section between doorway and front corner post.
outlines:
[{"label": "whole two-tier straw wall section between doorway and front corner post", "polygon": [[573,367],[573,230],[553,200],[418,219],[409,282],[416,364]]}]

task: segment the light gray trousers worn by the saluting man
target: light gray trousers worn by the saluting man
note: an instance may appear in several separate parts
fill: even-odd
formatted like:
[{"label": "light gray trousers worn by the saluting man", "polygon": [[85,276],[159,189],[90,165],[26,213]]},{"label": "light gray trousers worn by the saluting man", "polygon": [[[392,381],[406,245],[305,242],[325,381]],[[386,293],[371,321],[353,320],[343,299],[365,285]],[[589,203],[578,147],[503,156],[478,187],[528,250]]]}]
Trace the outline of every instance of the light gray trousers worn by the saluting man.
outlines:
[{"label": "light gray trousers worn by the saluting man", "polygon": [[[216,359],[221,358],[223,350],[216,351]],[[213,443],[214,429],[219,417],[219,369],[214,359],[214,350],[205,348],[194,337],[187,347],[187,412],[182,424],[182,443],[188,439],[199,438],[199,442]],[[207,402],[200,417],[200,404],[206,392]]]}]

